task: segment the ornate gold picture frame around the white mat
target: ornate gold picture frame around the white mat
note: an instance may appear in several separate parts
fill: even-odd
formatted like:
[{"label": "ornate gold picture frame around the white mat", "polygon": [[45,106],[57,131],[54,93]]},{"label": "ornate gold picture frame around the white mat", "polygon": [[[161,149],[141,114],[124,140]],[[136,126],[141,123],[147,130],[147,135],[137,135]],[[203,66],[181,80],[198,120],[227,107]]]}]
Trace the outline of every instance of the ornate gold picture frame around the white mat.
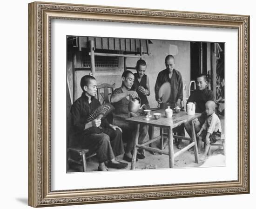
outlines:
[{"label": "ornate gold picture frame around the white mat", "polygon": [[[53,190],[52,20],[237,30],[237,179]],[[70,34],[67,34],[70,35]],[[249,193],[249,16],[33,2],[28,5],[28,204],[33,207]],[[65,44],[65,43],[63,43]],[[64,61],[65,62],[65,61]],[[232,76],[232,75],[230,75]],[[65,140],[64,140],[64,143]],[[63,156],[66,160],[66,157]],[[70,174],[69,174],[70,175]]]}]

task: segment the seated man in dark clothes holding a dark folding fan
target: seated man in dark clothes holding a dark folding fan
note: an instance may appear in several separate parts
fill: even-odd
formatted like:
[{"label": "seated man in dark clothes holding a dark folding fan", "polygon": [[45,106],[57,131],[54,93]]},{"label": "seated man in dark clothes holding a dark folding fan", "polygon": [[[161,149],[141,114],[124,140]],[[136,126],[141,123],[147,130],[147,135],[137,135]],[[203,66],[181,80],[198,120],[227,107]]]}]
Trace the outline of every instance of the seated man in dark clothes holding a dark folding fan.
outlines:
[{"label": "seated man in dark clothes holding a dark folding fan", "polygon": [[98,171],[107,170],[105,162],[108,162],[108,167],[111,168],[127,168],[128,163],[120,163],[115,159],[115,156],[124,153],[121,128],[109,124],[105,118],[85,122],[90,113],[100,106],[99,100],[94,98],[97,92],[95,78],[86,75],[81,78],[80,85],[83,93],[71,107],[75,138],[73,145],[96,152],[99,160]]}]

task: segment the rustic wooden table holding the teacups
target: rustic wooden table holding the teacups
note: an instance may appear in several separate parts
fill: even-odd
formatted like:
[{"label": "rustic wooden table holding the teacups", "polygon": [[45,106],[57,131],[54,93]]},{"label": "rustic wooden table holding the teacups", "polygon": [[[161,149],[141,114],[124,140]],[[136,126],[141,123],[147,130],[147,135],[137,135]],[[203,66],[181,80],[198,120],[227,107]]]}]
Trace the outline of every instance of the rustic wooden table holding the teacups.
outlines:
[{"label": "rustic wooden table holding the teacups", "polygon": [[[162,113],[161,118],[159,118],[159,119],[154,118],[153,113],[156,113],[156,112]],[[149,120],[146,120],[145,115],[127,119],[129,122],[134,122],[137,124],[137,131],[135,134],[135,146],[134,146],[134,152],[133,152],[134,154],[133,154],[133,158],[132,158],[131,170],[135,169],[138,148],[142,148],[142,149],[145,149],[148,151],[154,151],[154,152],[168,155],[169,156],[169,166],[170,166],[170,168],[173,168],[175,157],[179,156],[180,154],[182,154],[183,152],[185,152],[186,150],[189,150],[189,148],[194,146],[195,162],[198,163],[198,160],[199,160],[198,148],[197,148],[197,143],[196,143],[195,127],[194,127],[193,120],[195,120],[195,118],[200,117],[201,113],[195,113],[195,115],[187,115],[187,112],[180,111],[178,113],[173,113],[172,118],[166,118],[164,110],[156,110],[156,111],[152,111],[151,115],[152,115],[152,118],[150,118]],[[186,123],[189,121],[190,121],[190,125],[191,125],[191,130],[192,130],[192,143],[190,143],[189,145],[184,147],[182,150],[179,150],[178,152],[174,153],[173,137],[178,138],[178,139],[183,139],[183,140],[189,140],[189,141],[191,141],[191,138],[173,135],[172,130],[173,130],[173,128],[179,126],[180,124],[183,124],[183,123]],[[152,136],[151,136],[151,138],[149,138],[148,142],[143,143],[143,144],[138,144],[140,124],[151,125],[151,126],[168,129],[168,151],[164,151],[164,150],[160,150],[157,148],[152,148],[152,147],[147,146],[148,144],[151,144],[161,138],[161,136],[152,138],[153,134],[151,134]]]}]

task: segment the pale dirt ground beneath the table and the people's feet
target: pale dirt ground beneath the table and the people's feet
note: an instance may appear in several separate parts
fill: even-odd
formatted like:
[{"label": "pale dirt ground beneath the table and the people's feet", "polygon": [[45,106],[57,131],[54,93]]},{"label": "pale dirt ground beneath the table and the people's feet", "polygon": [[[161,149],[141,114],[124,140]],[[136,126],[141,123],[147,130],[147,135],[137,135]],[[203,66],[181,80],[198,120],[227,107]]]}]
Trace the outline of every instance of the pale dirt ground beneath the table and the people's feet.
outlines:
[{"label": "pale dirt ground beneath the table and the people's feet", "polygon": [[[221,120],[222,124],[222,138],[224,138],[224,117],[220,116],[219,117]],[[187,135],[187,133],[186,133]],[[159,136],[159,129],[155,128],[154,132],[154,137]],[[188,135],[187,135],[188,136]],[[148,135],[146,136],[144,142],[148,141]],[[184,141],[183,143],[185,145],[188,145],[188,141]],[[216,142],[218,144],[218,142]],[[153,144],[153,147],[158,147],[159,146],[159,141],[155,142]],[[168,151],[168,146],[165,146],[166,151]],[[174,152],[177,152],[178,148],[176,144],[174,144]],[[203,153],[203,148],[202,148],[202,153]],[[199,155],[202,156],[202,153]],[[140,170],[140,169],[162,169],[162,168],[169,168],[169,160],[168,160],[168,155],[152,155],[149,153],[147,150],[145,150],[145,158],[143,160],[138,160],[135,164],[135,169]],[[122,160],[122,156],[118,156],[117,160],[121,162],[125,162]],[[87,161],[88,163],[88,171],[96,171],[98,168],[98,163],[97,163],[97,158],[96,157],[91,157]],[[131,168],[131,163],[128,163],[128,168],[126,170],[129,170]],[[216,167],[216,166],[225,166],[225,155],[224,155],[224,150],[222,146],[212,146],[211,147],[211,155],[209,158],[205,161],[200,161],[199,163],[195,163],[195,156],[192,151],[185,151],[181,155],[175,158],[175,168],[189,168],[189,167]],[[115,170],[109,168],[108,170]],[[69,170],[67,172],[81,172],[82,167],[81,165],[76,165],[72,164],[69,166]],[[121,170],[120,170],[121,171]]]}]

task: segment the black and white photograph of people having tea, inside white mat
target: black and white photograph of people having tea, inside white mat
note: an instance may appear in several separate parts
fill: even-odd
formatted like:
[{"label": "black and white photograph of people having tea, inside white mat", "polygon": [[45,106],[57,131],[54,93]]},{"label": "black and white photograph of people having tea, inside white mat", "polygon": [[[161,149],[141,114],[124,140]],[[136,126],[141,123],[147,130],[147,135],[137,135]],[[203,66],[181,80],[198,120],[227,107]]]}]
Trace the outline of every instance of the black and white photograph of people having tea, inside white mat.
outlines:
[{"label": "black and white photograph of people having tea, inside white mat", "polygon": [[67,173],[225,166],[225,43],[66,44]]}]

